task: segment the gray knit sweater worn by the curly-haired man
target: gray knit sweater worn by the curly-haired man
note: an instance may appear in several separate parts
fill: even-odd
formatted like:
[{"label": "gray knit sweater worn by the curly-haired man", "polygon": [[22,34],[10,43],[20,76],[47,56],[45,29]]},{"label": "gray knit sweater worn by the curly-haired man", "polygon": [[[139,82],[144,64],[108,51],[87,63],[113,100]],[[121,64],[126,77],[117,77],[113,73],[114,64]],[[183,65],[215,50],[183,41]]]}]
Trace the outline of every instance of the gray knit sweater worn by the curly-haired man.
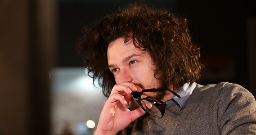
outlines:
[{"label": "gray knit sweater worn by the curly-haired man", "polygon": [[182,110],[172,102],[163,118],[142,116],[122,134],[256,134],[255,98],[237,84],[196,84]]}]

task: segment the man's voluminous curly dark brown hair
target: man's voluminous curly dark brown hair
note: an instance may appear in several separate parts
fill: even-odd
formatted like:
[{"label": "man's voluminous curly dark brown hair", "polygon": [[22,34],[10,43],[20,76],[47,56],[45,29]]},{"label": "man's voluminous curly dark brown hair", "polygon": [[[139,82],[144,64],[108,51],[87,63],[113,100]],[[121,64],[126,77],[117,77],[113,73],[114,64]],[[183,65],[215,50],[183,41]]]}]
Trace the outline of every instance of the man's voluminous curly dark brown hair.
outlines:
[{"label": "man's voluminous curly dark brown hair", "polygon": [[149,51],[157,68],[155,77],[163,87],[172,84],[177,91],[201,76],[200,51],[192,43],[187,19],[162,8],[133,3],[84,27],[78,43],[88,75],[93,83],[98,80],[106,97],[116,84],[107,64],[107,47],[120,37],[132,39],[134,46]]}]

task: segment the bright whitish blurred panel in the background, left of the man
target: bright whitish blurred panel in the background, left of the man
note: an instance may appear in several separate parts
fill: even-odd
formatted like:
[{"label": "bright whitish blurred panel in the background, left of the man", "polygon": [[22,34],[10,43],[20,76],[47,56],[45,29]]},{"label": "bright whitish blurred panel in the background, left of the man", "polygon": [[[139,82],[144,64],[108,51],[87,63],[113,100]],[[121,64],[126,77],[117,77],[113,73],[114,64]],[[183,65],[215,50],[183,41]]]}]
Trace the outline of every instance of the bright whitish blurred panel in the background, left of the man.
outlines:
[{"label": "bright whitish blurred panel in the background, left of the man", "polygon": [[[96,126],[106,101],[102,89],[93,86],[84,68],[55,68],[52,83],[52,134],[92,134],[88,120]],[[97,82],[96,82],[97,84]]]}]

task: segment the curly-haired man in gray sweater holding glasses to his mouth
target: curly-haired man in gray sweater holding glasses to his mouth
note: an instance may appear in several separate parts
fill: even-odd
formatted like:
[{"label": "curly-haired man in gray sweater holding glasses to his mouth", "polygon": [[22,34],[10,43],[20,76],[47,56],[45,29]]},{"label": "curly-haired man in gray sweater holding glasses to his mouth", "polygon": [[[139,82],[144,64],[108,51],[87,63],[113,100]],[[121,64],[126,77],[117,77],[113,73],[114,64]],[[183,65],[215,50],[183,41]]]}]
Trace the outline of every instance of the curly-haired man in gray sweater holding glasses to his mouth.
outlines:
[{"label": "curly-haired man in gray sweater holding glasses to his mouth", "polygon": [[186,19],[138,3],[83,34],[78,51],[108,97],[95,134],[256,134],[246,89],[196,83],[203,65]]}]

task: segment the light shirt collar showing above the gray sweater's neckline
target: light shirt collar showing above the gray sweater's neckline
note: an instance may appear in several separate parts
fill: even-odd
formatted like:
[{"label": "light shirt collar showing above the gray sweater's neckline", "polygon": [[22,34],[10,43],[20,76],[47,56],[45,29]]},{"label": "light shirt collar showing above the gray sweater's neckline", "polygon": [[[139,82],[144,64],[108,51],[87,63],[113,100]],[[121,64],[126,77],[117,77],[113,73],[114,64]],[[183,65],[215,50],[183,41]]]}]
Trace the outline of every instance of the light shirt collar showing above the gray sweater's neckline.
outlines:
[{"label": "light shirt collar showing above the gray sweater's neckline", "polygon": [[173,96],[169,100],[165,101],[166,104],[170,104],[171,102],[176,102],[179,106],[179,110],[182,110],[186,106],[186,102],[190,97],[193,90],[196,88],[196,83],[185,83],[181,88],[179,88],[177,94],[181,96],[178,98],[177,96]]}]

